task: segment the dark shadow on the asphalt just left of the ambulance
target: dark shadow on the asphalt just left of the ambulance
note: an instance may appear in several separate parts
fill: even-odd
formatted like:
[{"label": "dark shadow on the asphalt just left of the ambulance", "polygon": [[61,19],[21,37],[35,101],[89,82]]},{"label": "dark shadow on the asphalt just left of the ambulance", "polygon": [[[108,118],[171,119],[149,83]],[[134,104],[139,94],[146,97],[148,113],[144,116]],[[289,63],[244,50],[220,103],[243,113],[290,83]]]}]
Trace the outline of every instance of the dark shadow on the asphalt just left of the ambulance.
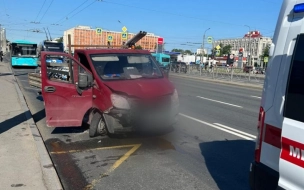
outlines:
[{"label": "dark shadow on the asphalt just left of the ambulance", "polygon": [[200,143],[199,146],[219,189],[249,189],[249,166],[255,147],[253,141],[213,141]]}]

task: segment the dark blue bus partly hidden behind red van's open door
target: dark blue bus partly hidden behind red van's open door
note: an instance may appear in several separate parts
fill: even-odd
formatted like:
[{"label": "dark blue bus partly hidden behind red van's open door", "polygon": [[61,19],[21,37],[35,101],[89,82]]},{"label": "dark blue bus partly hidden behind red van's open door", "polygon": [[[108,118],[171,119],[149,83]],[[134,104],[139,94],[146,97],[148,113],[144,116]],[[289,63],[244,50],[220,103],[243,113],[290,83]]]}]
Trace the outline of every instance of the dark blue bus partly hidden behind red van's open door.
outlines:
[{"label": "dark blue bus partly hidden behind red van's open door", "polygon": [[[37,55],[40,59],[42,51],[52,51],[52,52],[64,52],[63,43],[57,41],[44,40],[38,45]],[[47,63],[63,63],[63,57],[49,56],[46,59]]]}]

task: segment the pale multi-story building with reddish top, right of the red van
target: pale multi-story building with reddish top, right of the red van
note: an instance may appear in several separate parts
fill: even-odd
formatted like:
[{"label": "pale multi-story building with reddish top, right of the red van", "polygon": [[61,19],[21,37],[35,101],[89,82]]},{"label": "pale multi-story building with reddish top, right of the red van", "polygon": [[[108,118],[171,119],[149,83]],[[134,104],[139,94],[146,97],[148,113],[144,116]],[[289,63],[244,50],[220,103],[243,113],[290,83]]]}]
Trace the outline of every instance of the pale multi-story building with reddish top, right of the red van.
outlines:
[{"label": "pale multi-story building with reddish top, right of the red van", "polygon": [[259,31],[250,31],[243,38],[216,40],[214,41],[214,47],[219,44],[223,46],[231,45],[231,53],[235,55],[238,55],[239,50],[242,48],[243,56],[246,58],[251,57],[251,65],[259,65],[265,47],[271,43],[272,39],[270,37],[263,37]]}]

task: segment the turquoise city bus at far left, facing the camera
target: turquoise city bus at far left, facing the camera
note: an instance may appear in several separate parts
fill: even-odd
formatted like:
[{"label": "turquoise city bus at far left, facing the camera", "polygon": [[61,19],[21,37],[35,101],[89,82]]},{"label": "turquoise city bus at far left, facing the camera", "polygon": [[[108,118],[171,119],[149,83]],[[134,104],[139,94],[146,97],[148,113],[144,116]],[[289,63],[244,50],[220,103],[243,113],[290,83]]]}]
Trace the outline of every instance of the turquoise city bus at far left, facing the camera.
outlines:
[{"label": "turquoise city bus at far left, facing the camera", "polygon": [[37,67],[37,43],[16,40],[11,43],[11,64],[15,66]]}]

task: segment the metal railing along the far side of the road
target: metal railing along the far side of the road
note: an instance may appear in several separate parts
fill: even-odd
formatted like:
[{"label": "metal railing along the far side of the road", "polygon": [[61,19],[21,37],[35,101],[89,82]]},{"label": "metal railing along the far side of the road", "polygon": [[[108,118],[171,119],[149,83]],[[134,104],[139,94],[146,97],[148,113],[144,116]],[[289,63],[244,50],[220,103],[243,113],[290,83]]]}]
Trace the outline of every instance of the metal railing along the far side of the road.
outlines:
[{"label": "metal railing along the far side of the road", "polygon": [[263,85],[265,74],[257,71],[245,71],[242,68],[227,66],[200,66],[187,65],[185,69],[181,69],[179,65],[170,66],[169,74],[187,75],[195,77],[205,77],[214,80],[225,80],[241,83],[256,83]]}]

